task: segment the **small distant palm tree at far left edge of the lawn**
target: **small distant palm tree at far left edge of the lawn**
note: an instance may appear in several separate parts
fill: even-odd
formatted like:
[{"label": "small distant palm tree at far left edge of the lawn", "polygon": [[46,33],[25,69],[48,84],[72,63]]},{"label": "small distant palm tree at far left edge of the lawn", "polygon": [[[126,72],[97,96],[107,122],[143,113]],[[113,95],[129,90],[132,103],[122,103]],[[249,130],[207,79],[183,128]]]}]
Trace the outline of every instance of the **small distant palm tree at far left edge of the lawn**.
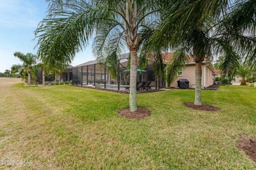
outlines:
[{"label": "small distant palm tree at far left edge of the lawn", "polygon": [[[26,73],[28,73],[28,86],[30,86],[30,74],[32,73],[32,66],[36,64],[37,62],[37,56],[32,54],[32,53],[27,53],[22,54],[21,52],[14,52],[14,56],[16,58],[19,58],[21,61],[23,61],[22,67],[20,68],[20,70],[24,71],[24,69],[26,70]],[[17,66],[17,65],[16,65]],[[22,69],[23,68],[23,69]],[[12,70],[18,70],[18,67],[13,67]],[[20,74],[22,75],[22,74]]]}]

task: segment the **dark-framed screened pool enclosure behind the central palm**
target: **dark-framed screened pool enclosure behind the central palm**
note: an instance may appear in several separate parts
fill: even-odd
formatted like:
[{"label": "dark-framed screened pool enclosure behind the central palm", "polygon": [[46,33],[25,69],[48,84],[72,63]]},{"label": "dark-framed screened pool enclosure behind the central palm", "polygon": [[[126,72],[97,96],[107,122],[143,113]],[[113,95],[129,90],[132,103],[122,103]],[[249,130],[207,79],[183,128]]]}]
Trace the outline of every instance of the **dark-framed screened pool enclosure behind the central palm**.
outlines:
[{"label": "dark-framed screened pool enclosure behind the central palm", "polygon": [[[129,90],[130,77],[128,65],[128,54],[118,57],[117,73],[112,76],[104,64],[97,61],[88,61],[77,65],[72,69],[73,85],[95,86],[97,88],[108,88],[113,90]],[[138,58],[139,60],[139,58]],[[114,78],[116,77],[116,78]],[[137,90],[150,90],[165,87],[164,78],[158,78],[153,65],[148,62],[144,69],[137,69]]]}]

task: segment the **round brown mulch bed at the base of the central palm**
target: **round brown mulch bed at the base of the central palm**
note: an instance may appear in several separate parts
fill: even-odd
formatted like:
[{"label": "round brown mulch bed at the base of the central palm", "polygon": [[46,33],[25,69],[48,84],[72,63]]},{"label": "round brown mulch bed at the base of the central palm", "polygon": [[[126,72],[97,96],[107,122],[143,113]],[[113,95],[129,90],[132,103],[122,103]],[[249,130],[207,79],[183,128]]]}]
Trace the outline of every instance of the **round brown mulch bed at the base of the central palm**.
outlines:
[{"label": "round brown mulch bed at the base of the central palm", "polygon": [[150,110],[141,107],[138,107],[136,112],[131,112],[129,109],[119,109],[117,114],[125,118],[140,120],[150,116]]}]

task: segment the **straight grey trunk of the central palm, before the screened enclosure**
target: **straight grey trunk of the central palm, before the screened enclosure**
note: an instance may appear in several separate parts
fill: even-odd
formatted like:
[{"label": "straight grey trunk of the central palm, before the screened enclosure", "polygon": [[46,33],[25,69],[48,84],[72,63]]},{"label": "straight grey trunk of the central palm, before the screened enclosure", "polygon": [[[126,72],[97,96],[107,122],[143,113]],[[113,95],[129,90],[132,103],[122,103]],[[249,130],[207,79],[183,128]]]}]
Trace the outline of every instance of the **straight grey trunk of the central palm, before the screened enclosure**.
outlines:
[{"label": "straight grey trunk of the central palm, before the screened enclosure", "polygon": [[129,104],[130,111],[137,111],[137,49],[131,49],[131,65],[130,65],[130,95]]}]

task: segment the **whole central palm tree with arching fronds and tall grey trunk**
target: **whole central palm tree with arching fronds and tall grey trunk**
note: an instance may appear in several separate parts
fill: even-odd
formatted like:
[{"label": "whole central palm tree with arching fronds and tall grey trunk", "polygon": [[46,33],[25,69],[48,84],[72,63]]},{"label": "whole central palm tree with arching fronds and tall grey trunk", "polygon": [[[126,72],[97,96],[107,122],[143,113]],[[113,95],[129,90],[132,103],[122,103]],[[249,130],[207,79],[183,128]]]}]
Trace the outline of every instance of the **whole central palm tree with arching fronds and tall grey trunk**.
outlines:
[{"label": "whole central palm tree with arching fronds and tall grey trunk", "polygon": [[[156,0],[95,0],[50,1],[49,14],[37,27],[38,55],[47,65],[68,65],[76,52],[85,48],[89,38],[93,53],[106,62],[112,73],[117,56],[129,50],[130,95],[132,112],[137,110],[137,56],[141,32],[158,20],[164,1]],[[111,69],[112,68],[112,69]],[[116,73],[115,73],[116,74]]]}]

